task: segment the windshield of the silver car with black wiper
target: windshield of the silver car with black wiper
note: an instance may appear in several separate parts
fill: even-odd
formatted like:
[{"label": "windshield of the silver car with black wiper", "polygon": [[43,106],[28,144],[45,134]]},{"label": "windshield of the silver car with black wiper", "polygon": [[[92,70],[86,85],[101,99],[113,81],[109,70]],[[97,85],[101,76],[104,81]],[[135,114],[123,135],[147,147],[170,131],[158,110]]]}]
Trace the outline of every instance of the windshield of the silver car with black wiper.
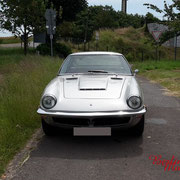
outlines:
[{"label": "windshield of the silver car with black wiper", "polygon": [[132,75],[128,63],[121,55],[70,55],[60,74],[64,73],[117,73]]}]

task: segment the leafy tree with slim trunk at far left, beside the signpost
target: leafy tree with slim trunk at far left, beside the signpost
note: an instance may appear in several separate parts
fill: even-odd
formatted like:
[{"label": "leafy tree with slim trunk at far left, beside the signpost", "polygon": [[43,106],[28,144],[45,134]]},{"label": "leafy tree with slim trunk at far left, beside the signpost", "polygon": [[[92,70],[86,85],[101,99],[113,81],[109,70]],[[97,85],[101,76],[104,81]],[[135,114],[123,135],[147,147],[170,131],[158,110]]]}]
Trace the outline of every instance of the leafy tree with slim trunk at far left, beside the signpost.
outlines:
[{"label": "leafy tree with slim trunk at far left, beside the signpost", "polygon": [[23,36],[24,53],[27,53],[28,38],[34,31],[45,26],[45,6],[42,0],[0,0],[1,28],[15,36]]}]

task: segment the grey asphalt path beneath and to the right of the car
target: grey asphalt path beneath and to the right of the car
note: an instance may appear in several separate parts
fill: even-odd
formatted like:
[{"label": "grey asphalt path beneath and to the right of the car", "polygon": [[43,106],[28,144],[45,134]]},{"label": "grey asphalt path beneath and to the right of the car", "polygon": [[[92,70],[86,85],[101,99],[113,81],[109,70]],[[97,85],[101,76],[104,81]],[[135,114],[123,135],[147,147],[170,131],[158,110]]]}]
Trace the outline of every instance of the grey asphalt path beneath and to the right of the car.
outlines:
[{"label": "grey asphalt path beneath and to the right of the car", "polygon": [[44,136],[13,180],[180,179],[180,171],[165,171],[164,166],[149,159],[161,155],[161,159],[174,156],[180,160],[180,99],[163,95],[157,84],[139,81],[148,107],[142,138],[127,133],[111,137],[73,137],[69,132]]}]

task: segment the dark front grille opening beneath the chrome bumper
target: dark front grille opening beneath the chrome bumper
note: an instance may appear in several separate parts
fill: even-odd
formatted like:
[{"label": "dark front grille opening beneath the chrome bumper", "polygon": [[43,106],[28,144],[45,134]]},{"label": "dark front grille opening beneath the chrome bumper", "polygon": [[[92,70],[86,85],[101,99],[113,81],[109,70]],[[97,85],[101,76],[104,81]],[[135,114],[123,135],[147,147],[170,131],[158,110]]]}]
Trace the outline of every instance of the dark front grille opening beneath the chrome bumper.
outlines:
[{"label": "dark front grille opening beneath the chrome bumper", "polygon": [[62,125],[70,125],[70,126],[90,126],[93,125],[95,127],[102,126],[118,126],[128,124],[130,121],[130,117],[96,117],[93,119],[88,118],[66,118],[66,117],[54,117],[55,123]]}]

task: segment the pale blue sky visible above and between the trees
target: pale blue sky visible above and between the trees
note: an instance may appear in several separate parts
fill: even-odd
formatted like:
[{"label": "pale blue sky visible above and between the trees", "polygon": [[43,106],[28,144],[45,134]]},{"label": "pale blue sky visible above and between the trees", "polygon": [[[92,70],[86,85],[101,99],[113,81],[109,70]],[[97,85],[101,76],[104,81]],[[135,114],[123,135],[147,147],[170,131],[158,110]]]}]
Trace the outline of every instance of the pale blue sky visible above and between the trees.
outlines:
[{"label": "pale blue sky visible above and between the trees", "polygon": [[[121,0],[87,0],[89,5],[108,5],[112,6],[116,11],[121,10]],[[172,3],[172,0],[166,0],[168,4]],[[164,7],[164,0],[128,0],[128,6],[127,6],[127,13],[128,14],[139,14],[139,15],[145,15],[147,12],[151,12],[156,17],[162,19],[162,14],[155,13],[152,10],[147,9],[146,6],[143,6],[144,3],[154,4],[158,6],[160,9],[163,9]],[[9,32],[2,32],[0,31],[0,37],[6,37],[11,36],[11,33]]]}]

